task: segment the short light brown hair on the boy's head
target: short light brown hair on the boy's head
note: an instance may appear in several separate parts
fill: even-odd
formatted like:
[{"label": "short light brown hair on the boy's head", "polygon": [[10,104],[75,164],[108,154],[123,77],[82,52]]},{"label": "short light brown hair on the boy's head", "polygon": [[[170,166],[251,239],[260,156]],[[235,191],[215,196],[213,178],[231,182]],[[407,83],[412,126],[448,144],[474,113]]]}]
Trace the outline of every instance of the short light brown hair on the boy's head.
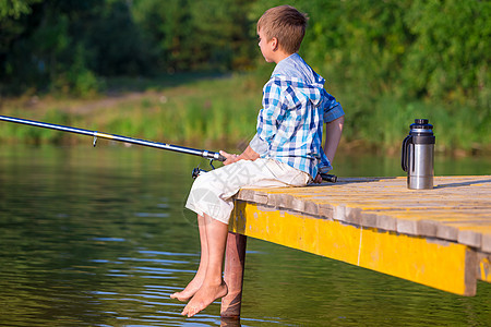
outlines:
[{"label": "short light brown hair on the boy's head", "polygon": [[307,14],[291,5],[274,7],[258,21],[258,32],[262,31],[267,40],[276,37],[284,51],[295,53],[300,49],[308,20]]}]

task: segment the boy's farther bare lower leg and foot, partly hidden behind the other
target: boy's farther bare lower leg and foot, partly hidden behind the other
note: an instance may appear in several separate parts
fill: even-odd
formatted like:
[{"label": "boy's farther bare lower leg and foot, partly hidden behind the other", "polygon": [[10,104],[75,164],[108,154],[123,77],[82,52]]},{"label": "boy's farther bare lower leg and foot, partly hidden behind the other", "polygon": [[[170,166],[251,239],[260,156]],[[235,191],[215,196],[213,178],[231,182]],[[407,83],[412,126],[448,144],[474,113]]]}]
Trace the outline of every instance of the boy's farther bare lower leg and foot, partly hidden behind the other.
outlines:
[{"label": "boy's farther bare lower leg and foot, partly hidden behind the other", "polygon": [[203,216],[197,215],[197,227],[200,229],[200,243],[201,243],[201,258],[200,267],[197,268],[196,275],[188,283],[184,290],[181,292],[176,292],[170,295],[171,299],[177,299],[179,301],[188,301],[203,284],[203,280],[206,274],[206,267],[208,264],[208,243],[206,241],[206,222]]}]

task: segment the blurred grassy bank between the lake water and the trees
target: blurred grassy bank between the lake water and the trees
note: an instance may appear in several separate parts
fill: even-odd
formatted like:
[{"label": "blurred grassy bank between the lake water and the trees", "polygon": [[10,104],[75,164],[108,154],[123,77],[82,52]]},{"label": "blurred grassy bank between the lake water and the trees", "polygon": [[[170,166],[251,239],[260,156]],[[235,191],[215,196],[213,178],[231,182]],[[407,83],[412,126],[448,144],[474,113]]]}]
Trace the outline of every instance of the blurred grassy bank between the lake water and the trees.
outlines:
[{"label": "blurred grassy bank between the lake water and the trees", "polygon": [[[108,81],[107,96],[95,99],[7,99],[0,114],[97,130],[193,147],[243,149],[255,133],[262,86],[267,75],[191,75],[160,80]],[[397,153],[415,118],[434,125],[442,153],[491,153],[490,112],[469,114],[456,105],[404,102],[385,96],[363,100],[343,89],[336,97],[346,111],[345,149]],[[83,136],[1,123],[1,142],[76,143]]]}]

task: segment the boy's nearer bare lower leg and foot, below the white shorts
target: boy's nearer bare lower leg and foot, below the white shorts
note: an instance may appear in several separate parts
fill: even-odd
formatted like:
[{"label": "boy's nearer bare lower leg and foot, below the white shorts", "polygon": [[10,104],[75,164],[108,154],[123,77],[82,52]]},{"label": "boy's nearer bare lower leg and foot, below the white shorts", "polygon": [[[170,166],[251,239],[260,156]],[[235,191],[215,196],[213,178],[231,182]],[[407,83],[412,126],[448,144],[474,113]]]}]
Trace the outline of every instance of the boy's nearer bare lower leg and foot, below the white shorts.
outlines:
[{"label": "boy's nearer bare lower leg and foot, below the white shorts", "polygon": [[208,262],[202,287],[181,313],[182,315],[188,315],[188,317],[204,310],[215,300],[227,295],[228,292],[221,276],[228,225],[213,219],[208,215],[204,215],[204,218],[206,223]]}]

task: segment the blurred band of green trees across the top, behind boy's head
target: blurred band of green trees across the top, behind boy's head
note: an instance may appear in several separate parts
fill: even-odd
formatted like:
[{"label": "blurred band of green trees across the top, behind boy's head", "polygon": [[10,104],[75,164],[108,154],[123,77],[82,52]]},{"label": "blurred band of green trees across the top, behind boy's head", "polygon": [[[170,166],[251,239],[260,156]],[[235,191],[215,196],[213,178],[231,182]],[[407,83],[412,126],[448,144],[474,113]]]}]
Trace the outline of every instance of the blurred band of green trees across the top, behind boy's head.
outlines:
[{"label": "blurred band of green trees across the top, behind boy's head", "polygon": [[[60,73],[80,64],[80,51],[73,51],[77,47],[84,49],[85,69],[77,69],[82,75],[252,68],[260,57],[252,40],[255,21],[277,4],[10,0],[0,4],[1,82],[16,84],[17,90],[57,82]],[[489,107],[489,1],[292,4],[310,16],[301,53],[346,92],[369,100],[393,94]]]}]

